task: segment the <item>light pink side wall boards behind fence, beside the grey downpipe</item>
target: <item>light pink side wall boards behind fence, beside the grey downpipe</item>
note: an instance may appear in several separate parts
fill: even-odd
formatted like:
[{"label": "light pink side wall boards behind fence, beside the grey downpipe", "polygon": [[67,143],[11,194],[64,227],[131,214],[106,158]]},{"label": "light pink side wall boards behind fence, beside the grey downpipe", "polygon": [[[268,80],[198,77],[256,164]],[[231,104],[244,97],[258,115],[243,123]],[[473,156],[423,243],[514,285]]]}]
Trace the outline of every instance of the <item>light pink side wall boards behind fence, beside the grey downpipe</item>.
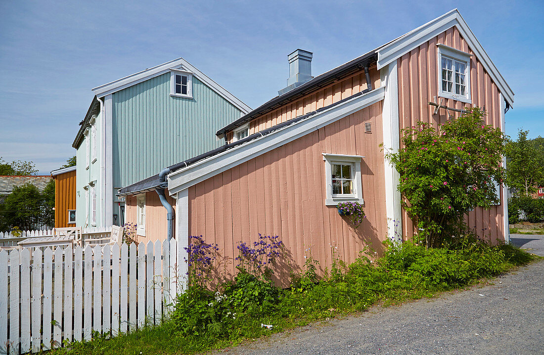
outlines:
[{"label": "light pink side wall boards behind fence, beside the grey downpipe", "polygon": [[[166,193],[168,202],[176,208],[176,201]],[[127,196],[125,198],[125,221],[136,223],[136,197]],[[166,209],[160,203],[157,192],[151,191],[145,194],[145,236],[138,235],[138,242],[164,241],[167,234],[166,230]]]}]

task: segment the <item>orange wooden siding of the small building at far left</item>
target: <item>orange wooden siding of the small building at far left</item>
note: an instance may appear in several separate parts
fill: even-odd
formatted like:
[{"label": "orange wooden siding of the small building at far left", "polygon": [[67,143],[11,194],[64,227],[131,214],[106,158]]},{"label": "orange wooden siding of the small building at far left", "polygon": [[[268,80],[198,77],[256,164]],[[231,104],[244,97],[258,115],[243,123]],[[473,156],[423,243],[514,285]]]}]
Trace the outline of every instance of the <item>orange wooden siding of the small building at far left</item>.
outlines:
[{"label": "orange wooden siding of the small building at far left", "polygon": [[75,226],[75,223],[68,224],[68,210],[75,209],[76,171],[74,170],[55,176],[55,228]]}]

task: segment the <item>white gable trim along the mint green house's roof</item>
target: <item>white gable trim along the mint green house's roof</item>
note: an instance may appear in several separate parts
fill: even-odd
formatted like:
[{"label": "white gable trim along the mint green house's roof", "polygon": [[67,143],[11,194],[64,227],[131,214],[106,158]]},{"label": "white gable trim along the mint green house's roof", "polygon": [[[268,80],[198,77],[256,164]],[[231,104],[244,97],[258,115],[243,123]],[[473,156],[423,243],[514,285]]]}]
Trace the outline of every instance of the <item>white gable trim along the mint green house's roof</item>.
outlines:
[{"label": "white gable trim along the mint green house's roof", "polygon": [[157,65],[155,67],[146,69],[144,71],[129,75],[128,77],[115,80],[114,82],[97,86],[96,88],[92,89],[92,91],[95,93],[96,97],[99,97],[99,98],[104,97],[108,94],[113,94],[116,91],[126,89],[129,86],[136,85],[138,83],[145,82],[145,80],[149,80],[151,78],[157,77],[164,73],[168,73],[172,69],[180,69],[180,70],[184,70],[184,71],[192,73],[201,82],[206,84],[213,91],[217,92],[219,95],[225,98],[228,102],[232,103],[244,114],[251,111],[251,108],[248,105],[240,101],[240,99],[238,99],[236,96],[232,95],[230,92],[225,90],[225,88],[223,88],[218,83],[214,82],[212,79],[207,77],[200,70],[195,68],[193,65],[191,65],[187,60],[183,58],[171,60],[168,63]]}]

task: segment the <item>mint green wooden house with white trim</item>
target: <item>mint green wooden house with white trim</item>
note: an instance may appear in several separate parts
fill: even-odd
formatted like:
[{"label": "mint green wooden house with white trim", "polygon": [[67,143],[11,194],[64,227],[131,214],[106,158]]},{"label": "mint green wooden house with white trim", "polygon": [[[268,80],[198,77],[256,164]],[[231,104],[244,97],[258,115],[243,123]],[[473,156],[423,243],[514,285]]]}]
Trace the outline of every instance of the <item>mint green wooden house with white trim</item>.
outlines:
[{"label": "mint green wooden house with white trim", "polygon": [[183,58],[92,89],[77,150],[76,225],[122,225],[123,186],[225,144],[251,109]]}]

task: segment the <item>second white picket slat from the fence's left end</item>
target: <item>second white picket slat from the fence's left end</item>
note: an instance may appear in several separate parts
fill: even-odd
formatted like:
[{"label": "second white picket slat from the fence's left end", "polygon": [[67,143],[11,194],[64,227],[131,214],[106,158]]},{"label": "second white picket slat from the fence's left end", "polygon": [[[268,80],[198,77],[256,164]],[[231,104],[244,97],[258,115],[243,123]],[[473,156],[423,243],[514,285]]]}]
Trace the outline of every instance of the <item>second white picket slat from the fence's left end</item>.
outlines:
[{"label": "second white picket slat from the fence's left end", "polygon": [[[9,253],[9,348],[11,354],[19,353],[19,254],[15,249]],[[1,344],[1,343],[0,343]]]}]

